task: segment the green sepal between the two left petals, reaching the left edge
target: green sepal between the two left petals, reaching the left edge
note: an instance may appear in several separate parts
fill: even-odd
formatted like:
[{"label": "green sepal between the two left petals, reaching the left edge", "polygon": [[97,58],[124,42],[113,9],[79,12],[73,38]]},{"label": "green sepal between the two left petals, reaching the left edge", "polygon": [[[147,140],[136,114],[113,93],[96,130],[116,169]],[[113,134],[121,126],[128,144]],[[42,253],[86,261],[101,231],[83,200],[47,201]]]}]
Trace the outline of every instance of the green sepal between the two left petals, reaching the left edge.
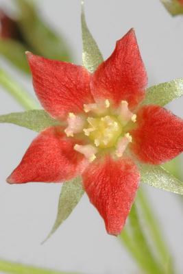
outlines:
[{"label": "green sepal between the two left petals, reaching the left edge", "polygon": [[41,132],[43,129],[61,123],[49,116],[45,110],[28,110],[25,112],[13,112],[0,116],[0,123],[12,123],[27,127],[35,132]]}]

